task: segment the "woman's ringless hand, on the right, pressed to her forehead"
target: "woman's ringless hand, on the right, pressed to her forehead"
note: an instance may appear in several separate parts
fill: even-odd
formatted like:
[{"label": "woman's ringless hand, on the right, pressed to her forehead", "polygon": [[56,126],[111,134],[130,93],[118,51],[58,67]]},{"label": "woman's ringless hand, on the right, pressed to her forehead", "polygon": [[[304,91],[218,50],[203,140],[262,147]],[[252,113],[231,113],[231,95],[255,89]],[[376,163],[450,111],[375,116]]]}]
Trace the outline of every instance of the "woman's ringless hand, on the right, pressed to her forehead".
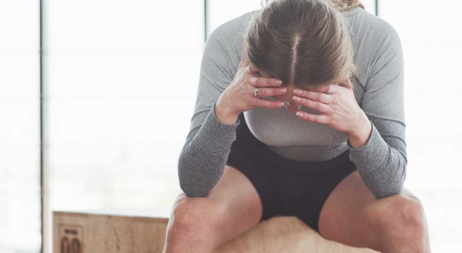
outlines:
[{"label": "woman's ringless hand, on the right, pressed to her forehead", "polygon": [[372,126],[354,98],[350,80],[346,85],[313,87],[310,90],[297,88],[293,92],[296,103],[320,113],[298,111],[296,115],[300,119],[347,133],[353,148],[363,146],[369,140]]}]

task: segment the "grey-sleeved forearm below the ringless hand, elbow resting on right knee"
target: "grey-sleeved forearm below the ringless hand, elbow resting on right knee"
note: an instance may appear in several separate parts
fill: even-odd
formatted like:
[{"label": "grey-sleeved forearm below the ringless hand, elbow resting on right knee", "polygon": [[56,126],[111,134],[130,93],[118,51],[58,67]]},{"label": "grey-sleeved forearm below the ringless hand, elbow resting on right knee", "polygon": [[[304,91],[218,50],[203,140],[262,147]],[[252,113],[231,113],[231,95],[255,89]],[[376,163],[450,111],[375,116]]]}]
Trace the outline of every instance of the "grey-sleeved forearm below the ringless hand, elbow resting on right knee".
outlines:
[{"label": "grey-sleeved forearm below the ringless hand, elbow resting on right knee", "polygon": [[376,198],[399,194],[406,178],[406,157],[382,138],[372,122],[369,124],[370,137],[364,145],[358,147],[349,140],[350,160]]}]

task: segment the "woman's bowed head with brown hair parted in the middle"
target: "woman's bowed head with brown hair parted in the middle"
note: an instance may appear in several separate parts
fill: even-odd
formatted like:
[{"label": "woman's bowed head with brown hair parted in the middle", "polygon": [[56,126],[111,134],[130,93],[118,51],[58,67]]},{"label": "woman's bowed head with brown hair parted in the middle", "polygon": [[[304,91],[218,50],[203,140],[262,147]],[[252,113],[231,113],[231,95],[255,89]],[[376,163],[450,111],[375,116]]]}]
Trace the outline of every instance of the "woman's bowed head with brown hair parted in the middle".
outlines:
[{"label": "woman's bowed head with brown hair parted in the middle", "polygon": [[273,0],[244,34],[247,59],[290,87],[343,83],[354,73],[343,16],[328,0]]}]

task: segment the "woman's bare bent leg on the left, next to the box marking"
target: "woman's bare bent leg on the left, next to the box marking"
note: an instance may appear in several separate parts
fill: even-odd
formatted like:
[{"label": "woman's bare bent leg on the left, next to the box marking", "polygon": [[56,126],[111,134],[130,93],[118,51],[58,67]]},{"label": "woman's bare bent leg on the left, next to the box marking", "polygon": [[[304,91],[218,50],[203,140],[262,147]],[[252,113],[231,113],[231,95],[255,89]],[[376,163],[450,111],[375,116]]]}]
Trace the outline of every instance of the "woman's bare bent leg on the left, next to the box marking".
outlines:
[{"label": "woman's bare bent leg on the left, next to the box marking", "polygon": [[226,165],[207,197],[180,193],[167,225],[164,253],[210,253],[259,223],[262,204],[253,184]]}]

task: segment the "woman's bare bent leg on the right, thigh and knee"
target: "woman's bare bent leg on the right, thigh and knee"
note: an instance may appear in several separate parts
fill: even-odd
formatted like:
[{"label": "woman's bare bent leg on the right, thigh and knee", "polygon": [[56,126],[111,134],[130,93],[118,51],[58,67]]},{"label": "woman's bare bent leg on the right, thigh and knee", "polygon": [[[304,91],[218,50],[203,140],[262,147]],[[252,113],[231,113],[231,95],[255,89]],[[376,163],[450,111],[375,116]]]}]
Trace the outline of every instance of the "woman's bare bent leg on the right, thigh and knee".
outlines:
[{"label": "woman's bare bent leg on the right, thigh and knee", "polygon": [[422,203],[406,188],[376,199],[357,171],[341,181],[324,203],[319,231],[329,240],[382,253],[429,253]]}]

